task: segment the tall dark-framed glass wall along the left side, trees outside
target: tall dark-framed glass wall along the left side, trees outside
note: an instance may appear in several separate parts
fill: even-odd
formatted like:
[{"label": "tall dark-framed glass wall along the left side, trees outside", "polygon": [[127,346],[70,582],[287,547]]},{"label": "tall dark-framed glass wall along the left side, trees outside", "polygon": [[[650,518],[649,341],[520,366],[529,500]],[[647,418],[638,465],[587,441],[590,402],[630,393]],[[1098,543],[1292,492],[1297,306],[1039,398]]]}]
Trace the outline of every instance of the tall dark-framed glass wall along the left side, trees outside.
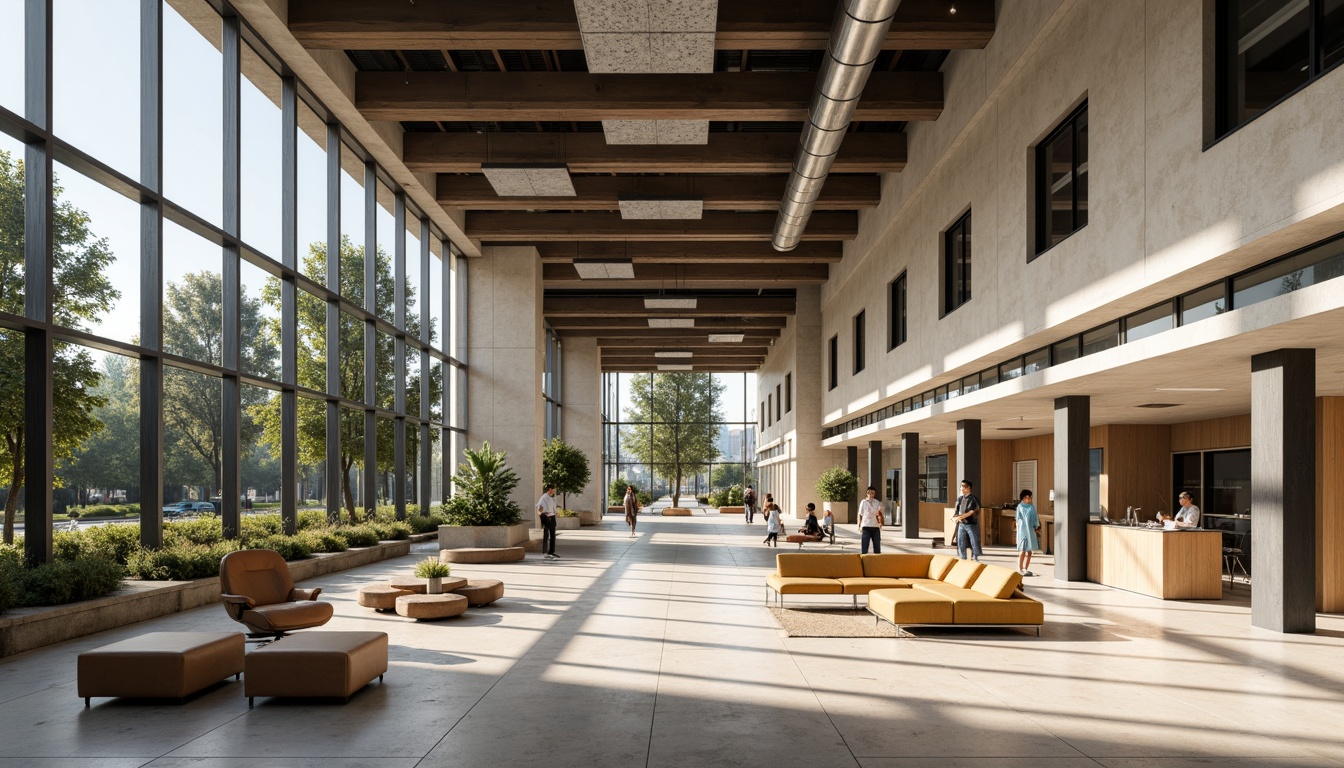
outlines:
[{"label": "tall dark-framed glass wall along the left side, trees outside", "polygon": [[233,8],[4,3],[0,50],[8,519],[439,500],[466,270]]}]

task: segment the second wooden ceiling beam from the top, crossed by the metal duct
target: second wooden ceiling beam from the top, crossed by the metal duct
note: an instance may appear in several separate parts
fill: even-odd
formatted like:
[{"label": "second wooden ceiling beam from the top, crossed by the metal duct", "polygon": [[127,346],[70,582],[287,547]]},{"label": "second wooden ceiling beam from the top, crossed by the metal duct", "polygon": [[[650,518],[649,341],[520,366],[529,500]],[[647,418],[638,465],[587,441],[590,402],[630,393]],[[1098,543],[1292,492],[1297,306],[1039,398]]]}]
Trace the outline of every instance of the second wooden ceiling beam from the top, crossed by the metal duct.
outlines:
[{"label": "second wooden ceiling beam from the top, crossed by the metal duct", "polygon": [[[368,120],[801,121],[816,73],[356,73]],[[942,73],[872,73],[855,121],[937,120]]]}]

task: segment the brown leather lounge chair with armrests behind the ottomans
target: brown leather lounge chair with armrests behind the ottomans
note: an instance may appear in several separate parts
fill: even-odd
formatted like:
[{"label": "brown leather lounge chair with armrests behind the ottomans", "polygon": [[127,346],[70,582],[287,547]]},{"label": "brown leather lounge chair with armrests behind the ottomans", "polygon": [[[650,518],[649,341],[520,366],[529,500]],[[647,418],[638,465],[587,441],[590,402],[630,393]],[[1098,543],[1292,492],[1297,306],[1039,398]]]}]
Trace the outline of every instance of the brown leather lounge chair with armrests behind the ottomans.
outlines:
[{"label": "brown leather lounge chair with armrests behind the ottomans", "polygon": [[269,549],[231,551],[219,561],[219,599],[228,617],[251,638],[282,638],[294,629],[321,627],[335,608],[319,603],[317,589],[296,589],[285,558]]}]

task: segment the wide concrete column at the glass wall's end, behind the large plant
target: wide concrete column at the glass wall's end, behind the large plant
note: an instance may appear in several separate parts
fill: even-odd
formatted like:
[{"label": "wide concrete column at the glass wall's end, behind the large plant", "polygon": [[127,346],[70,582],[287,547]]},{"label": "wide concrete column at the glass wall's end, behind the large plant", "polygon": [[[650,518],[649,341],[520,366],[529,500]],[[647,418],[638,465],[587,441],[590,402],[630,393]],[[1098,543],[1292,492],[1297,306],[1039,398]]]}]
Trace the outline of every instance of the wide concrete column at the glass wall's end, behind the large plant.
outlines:
[{"label": "wide concrete column at the glass wall's end, behind the large plant", "polygon": [[542,262],[531,246],[481,250],[470,264],[466,444],[474,451],[488,440],[491,448],[508,451],[508,465],[519,476],[513,500],[535,525],[546,434]]}]

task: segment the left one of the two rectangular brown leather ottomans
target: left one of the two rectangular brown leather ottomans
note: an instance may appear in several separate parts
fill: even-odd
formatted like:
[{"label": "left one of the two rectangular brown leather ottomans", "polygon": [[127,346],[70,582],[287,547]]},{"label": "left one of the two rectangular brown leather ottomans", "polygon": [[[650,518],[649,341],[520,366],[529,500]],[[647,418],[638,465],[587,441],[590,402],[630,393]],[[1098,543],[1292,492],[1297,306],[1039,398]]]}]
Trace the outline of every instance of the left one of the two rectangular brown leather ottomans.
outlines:
[{"label": "left one of the two rectangular brown leather ottomans", "polygon": [[98,695],[176,698],[243,671],[242,632],[149,632],[79,654],[78,690]]}]

